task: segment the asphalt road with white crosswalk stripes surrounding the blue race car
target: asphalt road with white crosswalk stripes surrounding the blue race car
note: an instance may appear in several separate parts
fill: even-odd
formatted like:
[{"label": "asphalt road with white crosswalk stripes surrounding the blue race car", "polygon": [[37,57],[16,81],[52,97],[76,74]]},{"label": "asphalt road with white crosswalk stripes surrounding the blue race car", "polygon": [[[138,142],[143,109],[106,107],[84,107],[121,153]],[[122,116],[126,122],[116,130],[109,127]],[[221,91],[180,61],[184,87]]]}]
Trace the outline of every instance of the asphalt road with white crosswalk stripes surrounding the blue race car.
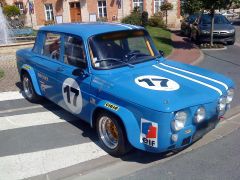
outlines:
[{"label": "asphalt road with white crosswalk stripes surrounding the blue race car", "polygon": [[[205,60],[199,66],[231,77],[238,88],[239,50],[229,46],[224,51],[204,51]],[[234,108],[238,108],[239,98],[237,90]],[[88,124],[47,100],[32,104],[18,92],[0,93],[0,107],[0,180],[240,178],[239,130],[217,141],[223,131],[214,130],[185,154],[133,150],[127,156],[113,158],[101,149]],[[221,126],[229,132],[240,123]],[[201,147],[206,140],[215,142]]]}]

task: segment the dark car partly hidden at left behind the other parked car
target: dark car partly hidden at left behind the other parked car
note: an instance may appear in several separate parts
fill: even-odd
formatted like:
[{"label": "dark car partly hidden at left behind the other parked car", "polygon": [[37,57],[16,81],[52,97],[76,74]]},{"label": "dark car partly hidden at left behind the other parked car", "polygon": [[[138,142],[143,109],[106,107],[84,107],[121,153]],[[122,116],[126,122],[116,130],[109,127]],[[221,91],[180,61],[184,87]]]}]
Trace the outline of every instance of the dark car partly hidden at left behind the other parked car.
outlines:
[{"label": "dark car partly hidden at left behind the other parked car", "polygon": [[196,21],[199,14],[193,14],[181,21],[181,33],[185,36],[190,37],[192,24]]}]

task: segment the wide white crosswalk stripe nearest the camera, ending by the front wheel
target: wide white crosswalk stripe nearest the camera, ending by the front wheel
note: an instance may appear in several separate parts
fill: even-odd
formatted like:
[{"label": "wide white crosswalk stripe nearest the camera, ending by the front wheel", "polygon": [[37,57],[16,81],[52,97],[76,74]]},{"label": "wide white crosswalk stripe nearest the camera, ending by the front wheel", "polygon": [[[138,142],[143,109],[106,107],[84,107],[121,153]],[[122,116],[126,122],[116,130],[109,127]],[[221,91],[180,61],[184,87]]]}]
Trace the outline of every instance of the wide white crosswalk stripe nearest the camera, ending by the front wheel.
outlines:
[{"label": "wide white crosswalk stripe nearest the camera, ending by the front wheel", "polygon": [[2,179],[24,179],[106,155],[95,143],[0,157]]}]

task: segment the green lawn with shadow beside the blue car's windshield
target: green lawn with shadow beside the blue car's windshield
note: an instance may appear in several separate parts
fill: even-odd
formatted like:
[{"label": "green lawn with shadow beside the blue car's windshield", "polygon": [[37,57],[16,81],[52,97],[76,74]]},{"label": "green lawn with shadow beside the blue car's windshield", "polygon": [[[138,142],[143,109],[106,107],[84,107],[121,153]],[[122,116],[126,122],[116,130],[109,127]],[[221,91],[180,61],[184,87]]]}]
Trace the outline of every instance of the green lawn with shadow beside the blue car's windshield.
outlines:
[{"label": "green lawn with shadow beside the blue car's windshield", "polygon": [[147,27],[150,36],[158,50],[162,50],[168,56],[173,49],[171,32],[158,27]]}]

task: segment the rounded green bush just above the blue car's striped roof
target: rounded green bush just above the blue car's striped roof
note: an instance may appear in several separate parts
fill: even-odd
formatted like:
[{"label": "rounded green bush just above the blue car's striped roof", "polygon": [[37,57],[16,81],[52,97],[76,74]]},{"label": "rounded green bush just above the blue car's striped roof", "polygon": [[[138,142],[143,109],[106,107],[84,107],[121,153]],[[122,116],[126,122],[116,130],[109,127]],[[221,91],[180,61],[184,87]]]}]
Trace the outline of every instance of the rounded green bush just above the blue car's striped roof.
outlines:
[{"label": "rounded green bush just above the blue car's striped roof", "polygon": [[133,25],[142,25],[142,16],[138,8],[134,8],[130,15],[122,19],[122,23],[133,24]]}]

